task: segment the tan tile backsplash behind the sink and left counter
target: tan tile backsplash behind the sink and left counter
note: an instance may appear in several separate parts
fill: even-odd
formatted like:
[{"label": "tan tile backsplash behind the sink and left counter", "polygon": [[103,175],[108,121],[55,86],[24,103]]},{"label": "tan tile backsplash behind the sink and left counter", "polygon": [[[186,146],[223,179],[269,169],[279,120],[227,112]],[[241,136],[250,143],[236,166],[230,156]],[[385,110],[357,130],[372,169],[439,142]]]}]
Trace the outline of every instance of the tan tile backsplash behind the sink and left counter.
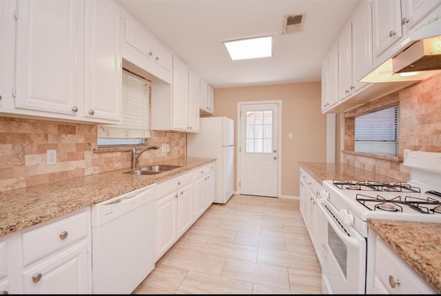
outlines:
[{"label": "tan tile backsplash behind the sink and left counter", "polygon": [[[185,156],[185,134],[152,131],[147,139],[163,143],[169,152],[146,151],[139,165]],[[96,148],[96,125],[0,117],[0,191],[130,169],[130,149]],[[56,165],[46,165],[47,150],[57,150]]]}]

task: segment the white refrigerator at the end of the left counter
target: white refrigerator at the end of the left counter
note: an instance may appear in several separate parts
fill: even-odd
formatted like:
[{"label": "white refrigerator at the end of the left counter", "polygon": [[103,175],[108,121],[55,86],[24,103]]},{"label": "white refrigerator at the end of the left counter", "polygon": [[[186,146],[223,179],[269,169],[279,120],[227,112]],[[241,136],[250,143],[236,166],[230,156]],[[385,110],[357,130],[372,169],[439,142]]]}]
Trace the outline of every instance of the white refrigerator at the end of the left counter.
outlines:
[{"label": "white refrigerator at the end of the left counter", "polygon": [[187,134],[187,156],[216,158],[214,202],[225,204],[234,193],[234,120],[202,117],[198,134]]}]

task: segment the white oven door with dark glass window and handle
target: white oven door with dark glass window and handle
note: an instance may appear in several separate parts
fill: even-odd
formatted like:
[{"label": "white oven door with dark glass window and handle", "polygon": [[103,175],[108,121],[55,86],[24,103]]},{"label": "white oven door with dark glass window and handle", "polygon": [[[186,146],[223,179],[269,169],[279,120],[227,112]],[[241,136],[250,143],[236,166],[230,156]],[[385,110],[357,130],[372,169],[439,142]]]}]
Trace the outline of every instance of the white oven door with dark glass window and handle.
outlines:
[{"label": "white oven door with dark glass window and handle", "polygon": [[366,239],[326,198],[317,202],[322,253],[322,291],[327,294],[365,294]]}]

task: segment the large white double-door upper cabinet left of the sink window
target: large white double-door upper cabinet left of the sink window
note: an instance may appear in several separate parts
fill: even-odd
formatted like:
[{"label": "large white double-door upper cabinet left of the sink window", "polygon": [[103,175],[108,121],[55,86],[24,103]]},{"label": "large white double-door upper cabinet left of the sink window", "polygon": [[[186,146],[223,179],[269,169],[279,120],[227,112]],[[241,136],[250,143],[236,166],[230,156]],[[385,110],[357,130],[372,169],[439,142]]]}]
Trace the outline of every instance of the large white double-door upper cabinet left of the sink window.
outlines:
[{"label": "large white double-door upper cabinet left of the sink window", "polygon": [[[9,3],[10,1],[8,1]],[[121,10],[113,0],[18,0],[3,61],[13,116],[121,122]],[[5,22],[10,27],[10,17]],[[11,40],[9,40],[11,39]],[[4,73],[4,72],[3,72]],[[110,87],[112,85],[112,87]],[[6,92],[7,94],[7,92]],[[13,103],[12,103],[13,101]]]}]

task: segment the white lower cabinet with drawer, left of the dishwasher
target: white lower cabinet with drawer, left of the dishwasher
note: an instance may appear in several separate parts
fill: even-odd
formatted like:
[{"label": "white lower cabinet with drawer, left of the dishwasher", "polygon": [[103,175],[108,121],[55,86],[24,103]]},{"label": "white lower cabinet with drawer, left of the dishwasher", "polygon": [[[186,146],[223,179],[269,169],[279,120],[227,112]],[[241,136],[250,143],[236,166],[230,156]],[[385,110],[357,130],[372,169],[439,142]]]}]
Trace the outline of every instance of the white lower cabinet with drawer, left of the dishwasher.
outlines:
[{"label": "white lower cabinet with drawer, left of the dishwasher", "polygon": [[0,240],[0,292],[91,294],[90,231],[88,207],[4,235]]}]

